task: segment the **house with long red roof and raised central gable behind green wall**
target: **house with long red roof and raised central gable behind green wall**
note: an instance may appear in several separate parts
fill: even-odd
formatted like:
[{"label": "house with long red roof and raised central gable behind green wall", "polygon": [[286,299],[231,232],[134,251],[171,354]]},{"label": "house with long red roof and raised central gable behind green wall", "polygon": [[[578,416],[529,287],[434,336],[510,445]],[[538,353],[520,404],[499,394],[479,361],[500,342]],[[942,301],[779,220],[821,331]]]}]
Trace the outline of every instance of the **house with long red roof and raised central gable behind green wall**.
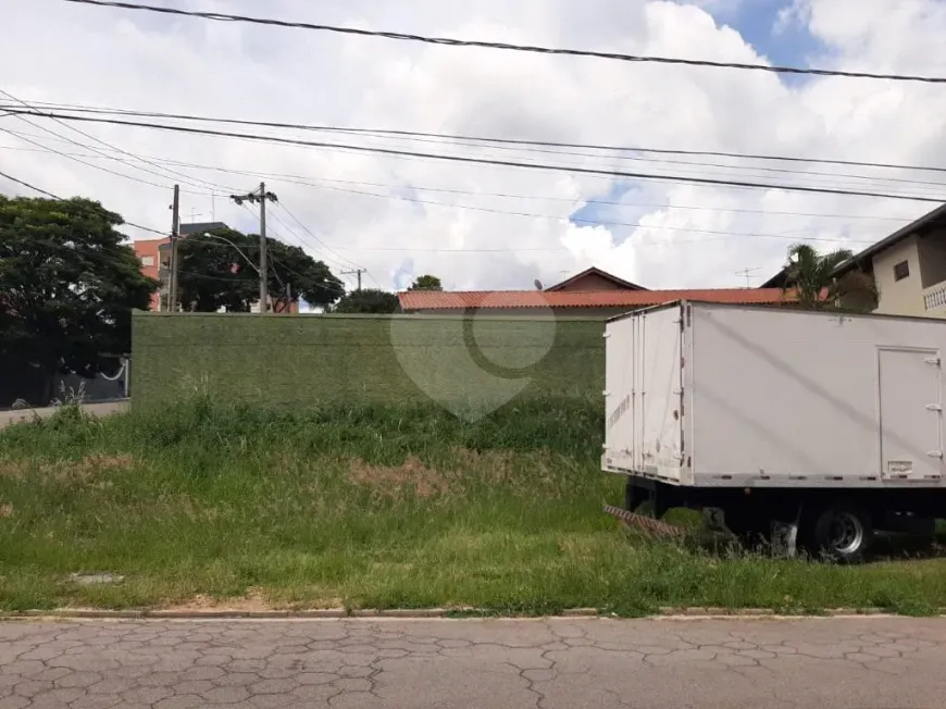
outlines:
[{"label": "house with long red roof and raised central gable behind green wall", "polygon": [[673,300],[768,306],[793,302],[782,288],[648,290],[600,269],[588,269],[542,290],[408,290],[399,293],[398,300],[404,313],[460,314],[468,310],[488,310],[497,315],[530,315],[550,310],[557,316],[595,319]]}]

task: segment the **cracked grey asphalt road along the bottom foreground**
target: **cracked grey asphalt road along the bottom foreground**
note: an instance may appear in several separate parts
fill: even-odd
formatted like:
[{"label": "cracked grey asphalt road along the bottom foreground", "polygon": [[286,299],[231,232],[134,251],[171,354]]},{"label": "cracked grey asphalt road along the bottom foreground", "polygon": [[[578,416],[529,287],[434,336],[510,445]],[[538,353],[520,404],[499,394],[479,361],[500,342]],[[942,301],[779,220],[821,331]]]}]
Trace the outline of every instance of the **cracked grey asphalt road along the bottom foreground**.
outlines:
[{"label": "cracked grey asphalt road along the bottom foreground", "polygon": [[941,709],[946,620],[0,623],[0,709]]}]

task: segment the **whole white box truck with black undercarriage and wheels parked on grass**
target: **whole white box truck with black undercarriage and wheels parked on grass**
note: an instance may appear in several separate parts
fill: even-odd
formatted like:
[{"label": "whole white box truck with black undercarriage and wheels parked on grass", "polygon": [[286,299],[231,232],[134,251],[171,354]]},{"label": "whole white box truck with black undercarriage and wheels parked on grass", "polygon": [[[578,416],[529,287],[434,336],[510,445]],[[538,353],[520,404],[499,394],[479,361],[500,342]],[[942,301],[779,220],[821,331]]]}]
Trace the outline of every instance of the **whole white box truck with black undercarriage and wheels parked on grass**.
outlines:
[{"label": "whole white box truck with black undercarriage and wheels parked on grass", "polygon": [[946,321],[680,301],[605,337],[601,465],[628,514],[702,510],[845,561],[946,517]]}]

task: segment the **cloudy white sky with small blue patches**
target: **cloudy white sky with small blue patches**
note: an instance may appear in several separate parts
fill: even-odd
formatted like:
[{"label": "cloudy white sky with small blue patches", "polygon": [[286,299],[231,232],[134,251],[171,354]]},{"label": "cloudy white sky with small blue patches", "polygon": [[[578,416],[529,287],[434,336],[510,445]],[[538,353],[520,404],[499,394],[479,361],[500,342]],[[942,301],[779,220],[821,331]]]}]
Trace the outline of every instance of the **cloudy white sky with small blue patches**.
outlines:
[{"label": "cloudy white sky with small blue patches", "polygon": [[[941,0],[148,1],[630,54],[946,75]],[[936,84],[430,46],[62,0],[7,0],[0,26],[0,90],[27,103],[904,165],[946,158],[946,86]],[[336,274],[364,269],[364,285],[385,289],[426,273],[449,289],[525,289],[592,265],[650,288],[759,285],[796,241],[857,251],[936,206],[682,177],[946,198],[935,172],[807,161],[238,128],[671,177],[656,181],[72,125],[83,133],[0,117],[0,171],[162,232],[175,183],[184,222],[257,231],[258,215],[228,196],[265,179],[278,197],[271,236]],[[34,195],[3,177],[0,191]],[[353,287],[353,275],[344,279]]]}]

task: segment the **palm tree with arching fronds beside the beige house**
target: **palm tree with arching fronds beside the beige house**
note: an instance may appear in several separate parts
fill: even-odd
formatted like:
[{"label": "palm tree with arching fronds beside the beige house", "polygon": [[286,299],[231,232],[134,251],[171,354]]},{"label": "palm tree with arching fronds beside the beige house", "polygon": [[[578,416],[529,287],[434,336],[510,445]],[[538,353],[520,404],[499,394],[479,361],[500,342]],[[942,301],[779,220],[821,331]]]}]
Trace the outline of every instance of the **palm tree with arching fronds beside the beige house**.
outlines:
[{"label": "palm tree with arching fronds beside the beige house", "polygon": [[854,252],[848,249],[819,253],[809,244],[795,244],[788,249],[783,290],[792,290],[798,304],[807,310],[870,312],[877,306],[873,277],[860,269],[834,275],[851,258]]}]

